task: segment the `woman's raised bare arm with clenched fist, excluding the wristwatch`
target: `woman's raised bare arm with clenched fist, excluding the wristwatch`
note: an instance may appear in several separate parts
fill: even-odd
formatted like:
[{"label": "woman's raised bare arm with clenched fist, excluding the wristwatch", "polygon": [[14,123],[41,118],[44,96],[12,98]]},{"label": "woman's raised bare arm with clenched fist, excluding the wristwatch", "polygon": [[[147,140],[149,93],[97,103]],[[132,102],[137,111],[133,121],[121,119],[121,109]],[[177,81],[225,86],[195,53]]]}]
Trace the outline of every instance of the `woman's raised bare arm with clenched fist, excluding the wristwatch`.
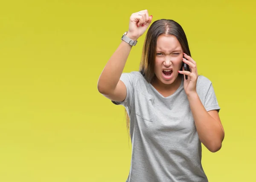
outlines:
[{"label": "woman's raised bare arm with clenched fist, excluding the wristwatch", "polygon": [[[148,11],[143,10],[133,13],[130,17],[129,31],[127,37],[137,40],[146,31],[151,23],[152,17],[148,17]],[[123,101],[126,97],[125,84],[120,81],[128,55],[132,46],[122,41],[116,51],[113,53],[105,68],[103,69],[99,80],[98,90],[102,95],[112,101]]]}]

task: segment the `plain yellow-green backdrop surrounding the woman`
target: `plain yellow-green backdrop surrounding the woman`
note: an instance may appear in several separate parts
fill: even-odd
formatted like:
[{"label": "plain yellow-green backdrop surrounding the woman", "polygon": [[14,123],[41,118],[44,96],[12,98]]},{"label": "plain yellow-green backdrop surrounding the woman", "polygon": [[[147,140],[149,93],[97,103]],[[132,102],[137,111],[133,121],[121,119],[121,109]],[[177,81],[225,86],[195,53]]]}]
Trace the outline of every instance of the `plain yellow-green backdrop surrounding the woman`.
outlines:
[{"label": "plain yellow-green backdrop surrounding the woman", "polygon": [[[124,182],[131,140],[122,106],[97,91],[131,13],[183,26],[226,132],[203,148],[209,182],[255,182],[253,0],[0,2],[0,182]],[[138,70],[143,35],[125,72]]]}]

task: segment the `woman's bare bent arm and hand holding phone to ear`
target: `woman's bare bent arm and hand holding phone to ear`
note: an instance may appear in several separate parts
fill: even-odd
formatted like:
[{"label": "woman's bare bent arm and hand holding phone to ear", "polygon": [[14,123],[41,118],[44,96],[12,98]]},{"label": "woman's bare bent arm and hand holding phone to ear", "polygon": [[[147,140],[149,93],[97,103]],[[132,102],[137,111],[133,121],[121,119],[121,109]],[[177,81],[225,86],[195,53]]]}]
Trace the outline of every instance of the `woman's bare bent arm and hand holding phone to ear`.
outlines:
[{"label": "woman's bare bent arm and hand holding phone to ear", "polygon": [[[221,149],[224,139],[224,129],[217,110],[207,112],[196,91],[198,72],[196,62],[185,53],[183,62],[189,65],[189,71],[179,71],[184,74],[184,90],[189,100],[189,106],[195,120],[195,127],[198,137],[205,147],[211,152],[217,152]],[[189,79],[185,79],[188,75]]]}]

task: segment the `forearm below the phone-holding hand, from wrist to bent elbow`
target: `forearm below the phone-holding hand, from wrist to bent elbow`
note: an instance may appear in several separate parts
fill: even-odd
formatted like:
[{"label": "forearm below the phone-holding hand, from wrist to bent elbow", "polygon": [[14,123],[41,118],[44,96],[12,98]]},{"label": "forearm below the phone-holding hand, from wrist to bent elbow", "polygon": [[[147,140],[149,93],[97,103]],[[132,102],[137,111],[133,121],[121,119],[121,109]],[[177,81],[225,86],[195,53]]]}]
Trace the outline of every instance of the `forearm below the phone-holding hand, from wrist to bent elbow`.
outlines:
[{"label": "forearm below the phone-holding hand, from wrist to bent elbow", "polygon": [[221,125],[205,110],[197,93],[188,95],[188,99],[200,141],[208,150],[218,151],[224,139]]}]

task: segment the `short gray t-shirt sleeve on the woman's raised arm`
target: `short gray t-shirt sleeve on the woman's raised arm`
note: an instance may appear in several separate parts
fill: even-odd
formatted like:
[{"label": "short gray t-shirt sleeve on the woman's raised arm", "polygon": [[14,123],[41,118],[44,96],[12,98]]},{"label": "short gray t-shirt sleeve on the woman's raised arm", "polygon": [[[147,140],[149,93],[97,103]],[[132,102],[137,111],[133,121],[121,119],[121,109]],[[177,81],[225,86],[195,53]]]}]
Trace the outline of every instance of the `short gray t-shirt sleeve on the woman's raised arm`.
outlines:
[{"label": "short gray t-shirt sleeve on the woman's raised arm", "polygon": [[113,104],[116,105],[123,105],[125,107],[131,107],[133,96],[134,96],[134,88],[137,82],[137,73],[136,72],[129,72],[129,73],[122,73],[120,80],[125,84],[126,87],[126,97],[124,101],[112,101]]}]

